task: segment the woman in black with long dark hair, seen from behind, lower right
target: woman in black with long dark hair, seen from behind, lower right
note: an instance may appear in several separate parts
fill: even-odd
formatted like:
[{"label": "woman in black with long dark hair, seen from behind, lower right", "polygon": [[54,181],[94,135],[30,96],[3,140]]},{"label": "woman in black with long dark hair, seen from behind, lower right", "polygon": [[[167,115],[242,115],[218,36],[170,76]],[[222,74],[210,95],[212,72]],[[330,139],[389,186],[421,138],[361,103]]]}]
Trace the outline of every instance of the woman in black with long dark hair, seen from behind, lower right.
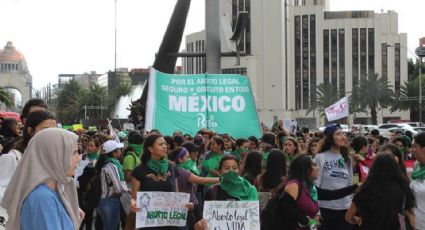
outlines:
[{"label": "woman in black with long dark hair, seen from behind, lower right", "polygon": [[398,213],[404,211],[401,210],[403,203],[405,207],[415,205],[413,192],[403,178],[394,155],[388,153],[376,156],[356,196],[363,204],[359,209],[376,224],[373,229],[400,229]]}]

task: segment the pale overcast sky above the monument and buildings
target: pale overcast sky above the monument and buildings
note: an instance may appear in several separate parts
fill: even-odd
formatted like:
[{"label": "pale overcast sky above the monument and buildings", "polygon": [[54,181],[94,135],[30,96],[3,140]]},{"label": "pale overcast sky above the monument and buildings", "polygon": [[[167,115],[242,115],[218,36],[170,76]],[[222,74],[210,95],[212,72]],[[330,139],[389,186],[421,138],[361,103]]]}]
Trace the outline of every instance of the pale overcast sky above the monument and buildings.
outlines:
[{"label": "pale overcast sky above the monument and buildings", "polygon": [[[117,1],[117,67],[147,68],[176,0]],[[204,2],[192,0],[185,34],[204,28]],[[424,0],[331,0],[330,9],[397,11],[410,50],[425,36]],[[12,41],[25,55],[36,89],[61,73],[114,68],[114,0],[0,0],[0,12],[0,49]]]}]

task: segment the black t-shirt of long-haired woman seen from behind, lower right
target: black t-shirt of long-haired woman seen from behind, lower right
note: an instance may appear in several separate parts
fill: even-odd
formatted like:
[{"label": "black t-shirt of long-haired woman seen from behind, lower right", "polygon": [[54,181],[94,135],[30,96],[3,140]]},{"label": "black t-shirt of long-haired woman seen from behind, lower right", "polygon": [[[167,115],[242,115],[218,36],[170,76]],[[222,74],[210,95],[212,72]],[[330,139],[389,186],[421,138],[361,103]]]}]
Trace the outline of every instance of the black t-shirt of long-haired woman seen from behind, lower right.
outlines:
[{"label": "black t-shirt of long-haired woman seen from behind, lower right", "polygon": [[[357,206],[357,216],[362,218],[361,230],[399,230],[398,213],[402,212],[404,193],[399,186],[384,188],[386,196],[371,194],[360,190],[354,195],[353,203]],[[397,196],[398,194],[398,196]],[[403,194],[403,195],[401,195]],[[413,208],[414,203],[405,200],[405,210]],[[383,228],[382,223],[386,223]]]}]

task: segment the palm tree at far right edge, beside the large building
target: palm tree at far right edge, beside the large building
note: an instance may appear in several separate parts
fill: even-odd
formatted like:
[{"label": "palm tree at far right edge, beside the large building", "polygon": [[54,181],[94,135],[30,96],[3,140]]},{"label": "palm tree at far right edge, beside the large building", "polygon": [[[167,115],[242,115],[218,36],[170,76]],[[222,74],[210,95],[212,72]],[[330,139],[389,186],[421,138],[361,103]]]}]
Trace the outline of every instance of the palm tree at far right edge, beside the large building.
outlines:
[{"label": "palm tree at far right edge, beside the large building", "polygon": [[[422,77],[422,81],[425,79]],[[422,92],[425,87],[422,86]],[[406,111],[410,109],[411,114],[417,115],[419,113],[419,100],[413,100],[412,98],[419,97],[419,79],[415,78],[410,81],[404,82],[404,85],[400,88],[400,97],[397,98],[391,111],[396,110]],[[423,109],[423,108],[422,108]],[[414,119],[412,119],[414,120]]]}]

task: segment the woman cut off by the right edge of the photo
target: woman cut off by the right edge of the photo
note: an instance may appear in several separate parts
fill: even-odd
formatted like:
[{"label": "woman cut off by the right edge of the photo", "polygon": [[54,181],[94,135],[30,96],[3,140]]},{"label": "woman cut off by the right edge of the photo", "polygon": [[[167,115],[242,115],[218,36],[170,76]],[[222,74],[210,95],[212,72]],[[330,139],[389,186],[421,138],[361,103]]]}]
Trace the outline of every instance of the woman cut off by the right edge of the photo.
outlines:
[{"label": "woman cut off by the right edge of the photo", "polygon": [[410,188],[416,197],[416,229],[425,230],[425,132],[419,133],[413,140],[413,152],[417,162],[411,174]]}]

